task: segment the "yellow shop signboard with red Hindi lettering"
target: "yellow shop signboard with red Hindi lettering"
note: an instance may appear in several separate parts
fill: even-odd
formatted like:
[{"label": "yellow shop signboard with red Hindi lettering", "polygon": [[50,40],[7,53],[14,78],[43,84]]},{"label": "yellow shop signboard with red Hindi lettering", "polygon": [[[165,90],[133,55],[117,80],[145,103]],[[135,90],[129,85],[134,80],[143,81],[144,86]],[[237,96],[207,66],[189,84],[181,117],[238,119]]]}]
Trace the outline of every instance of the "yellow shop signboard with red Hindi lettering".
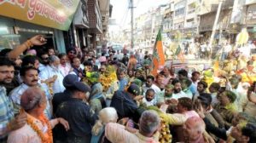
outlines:
[{"label": "yellow shop signboard with red Hindi lettering", "polygon": [[0,0],[0,15],[67,31],[79,0]]}]

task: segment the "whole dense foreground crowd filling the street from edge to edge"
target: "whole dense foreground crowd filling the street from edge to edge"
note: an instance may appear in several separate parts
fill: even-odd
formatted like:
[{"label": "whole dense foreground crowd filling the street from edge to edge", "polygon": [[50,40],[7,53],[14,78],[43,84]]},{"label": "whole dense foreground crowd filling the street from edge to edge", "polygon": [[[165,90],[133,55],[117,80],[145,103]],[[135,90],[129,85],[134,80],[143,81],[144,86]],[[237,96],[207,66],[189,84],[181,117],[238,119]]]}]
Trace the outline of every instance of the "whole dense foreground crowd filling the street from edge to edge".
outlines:
[{"label": "whole dense foreground crowd filling the street from edge to edge", "polygon": [[255,56],[241,69],[152,75],[152,54],[56,54],[45,43],[38,35],[0,52],[0,142],[256,141]]}]

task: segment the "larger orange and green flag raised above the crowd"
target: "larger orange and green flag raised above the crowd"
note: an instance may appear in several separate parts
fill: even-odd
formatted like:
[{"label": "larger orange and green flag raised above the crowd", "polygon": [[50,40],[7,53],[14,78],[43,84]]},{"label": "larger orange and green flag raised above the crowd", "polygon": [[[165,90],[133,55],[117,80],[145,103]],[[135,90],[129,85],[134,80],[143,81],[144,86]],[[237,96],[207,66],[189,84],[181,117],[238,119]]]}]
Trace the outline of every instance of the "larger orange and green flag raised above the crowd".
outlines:
[{"label": "larger orange and green flag raised above the crowd", "polygon": [[165,54],[163,49],[163,43],[162,43],[162,37],[161,37],[161,31],[158,31],[158,34],[156,36],[156,40],[154,43],[154,49],[153,49],[153,71],[152,74],[154,76],[157,75],[157,70],[160,66],[165,65]]}]

